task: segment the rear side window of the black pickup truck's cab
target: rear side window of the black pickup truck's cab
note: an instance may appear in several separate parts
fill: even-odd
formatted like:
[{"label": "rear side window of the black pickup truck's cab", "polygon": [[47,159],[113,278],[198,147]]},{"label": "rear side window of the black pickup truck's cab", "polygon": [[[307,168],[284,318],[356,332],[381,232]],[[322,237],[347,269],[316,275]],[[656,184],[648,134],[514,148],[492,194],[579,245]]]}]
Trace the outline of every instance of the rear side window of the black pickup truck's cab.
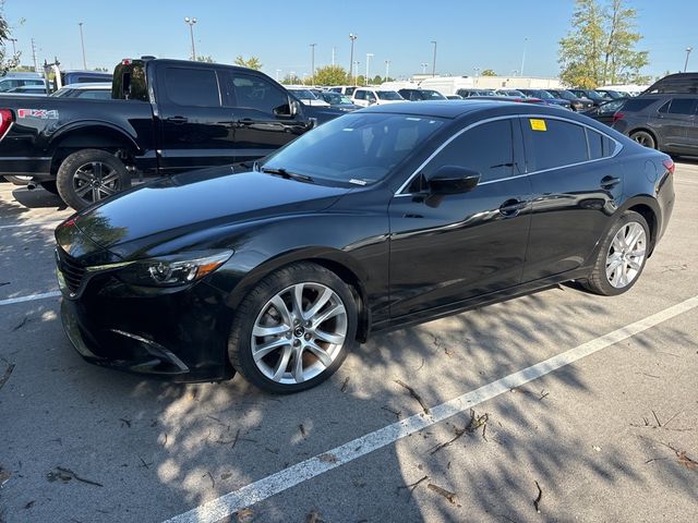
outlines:
[{"label": "rear side window of the black pickup truck's cab", "polygon": [[220,107],[216,72],[205,69],[167,68],[167,97],[172,104],[190,107]]}]

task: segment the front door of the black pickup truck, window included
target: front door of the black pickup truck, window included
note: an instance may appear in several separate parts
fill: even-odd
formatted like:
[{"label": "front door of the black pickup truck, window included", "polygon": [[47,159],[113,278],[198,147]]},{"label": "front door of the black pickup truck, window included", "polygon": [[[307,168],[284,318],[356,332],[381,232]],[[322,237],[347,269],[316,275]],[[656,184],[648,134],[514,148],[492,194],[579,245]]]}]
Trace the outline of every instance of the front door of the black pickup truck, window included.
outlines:
[{"label": "front door of the black pickup truck, window included", "polygon": [[308,131],[302,112],[291,114],[288,92],[272,81],[236,70],[219,71],[219,78],[236,163],[263,158]]}]

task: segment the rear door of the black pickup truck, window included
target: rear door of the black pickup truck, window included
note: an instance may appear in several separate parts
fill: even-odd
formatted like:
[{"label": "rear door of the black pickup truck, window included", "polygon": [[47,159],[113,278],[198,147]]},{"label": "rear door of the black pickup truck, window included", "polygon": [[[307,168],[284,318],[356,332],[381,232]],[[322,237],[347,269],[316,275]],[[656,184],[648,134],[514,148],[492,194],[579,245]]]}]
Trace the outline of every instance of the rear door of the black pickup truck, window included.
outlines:
[{"label": "rear door of the black pickup truck, window included", "polygon": [[216,69],[164,65],[157,77],[164,173],[232,163],[234,133]]}]

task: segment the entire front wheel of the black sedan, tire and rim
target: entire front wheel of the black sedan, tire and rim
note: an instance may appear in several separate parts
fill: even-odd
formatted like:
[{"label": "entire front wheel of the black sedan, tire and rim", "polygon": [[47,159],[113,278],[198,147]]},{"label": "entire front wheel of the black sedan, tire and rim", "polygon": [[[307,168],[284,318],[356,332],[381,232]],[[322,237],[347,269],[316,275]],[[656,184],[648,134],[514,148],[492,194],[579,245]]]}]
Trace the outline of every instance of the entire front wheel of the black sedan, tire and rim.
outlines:
[{"label": "entire front wheel of the black sedan, tire and rim", "polygon": [[[299,288],[302,321],[294,305]],[[312,263],[289,265],[244,297],[230,329],[228,356],[236,370],[267,392],[310,389],[329,378],[356,345],[357,317],[351,289],[337,275]],[[263,354],[255,357],[255,352]]]}]

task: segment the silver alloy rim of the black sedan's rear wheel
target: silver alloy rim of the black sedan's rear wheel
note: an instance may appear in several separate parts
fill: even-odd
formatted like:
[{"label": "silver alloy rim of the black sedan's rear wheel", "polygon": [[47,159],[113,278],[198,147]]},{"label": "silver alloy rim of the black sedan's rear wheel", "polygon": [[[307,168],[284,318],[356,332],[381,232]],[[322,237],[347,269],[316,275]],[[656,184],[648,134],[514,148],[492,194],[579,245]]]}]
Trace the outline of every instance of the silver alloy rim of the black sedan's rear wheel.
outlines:
[{"label": "silver alloy rim of the black sedan's rear wheel", "polygon": [[637,221],[625,223],[613,236],[606,254],[606,279],[616,289],[629,285],[642,270],[647,234]]}]

